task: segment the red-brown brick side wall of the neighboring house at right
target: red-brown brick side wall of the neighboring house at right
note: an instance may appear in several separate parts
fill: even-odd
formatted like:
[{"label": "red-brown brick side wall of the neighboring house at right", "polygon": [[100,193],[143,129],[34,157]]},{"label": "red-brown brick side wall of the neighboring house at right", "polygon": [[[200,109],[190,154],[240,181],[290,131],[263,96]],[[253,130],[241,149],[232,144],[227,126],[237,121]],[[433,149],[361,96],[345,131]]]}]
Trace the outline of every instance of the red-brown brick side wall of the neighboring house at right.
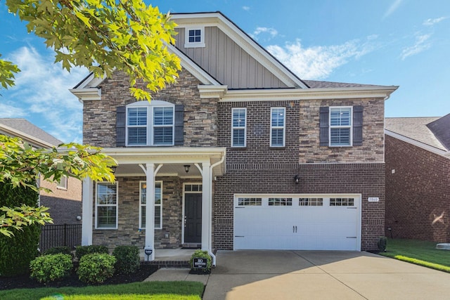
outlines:
[{"label": "red-brown brick side wall of the neighboring house at right", "polygon": [[386,136],[386,226],[394,238],[450,242],[449,170],[450,159]]}]

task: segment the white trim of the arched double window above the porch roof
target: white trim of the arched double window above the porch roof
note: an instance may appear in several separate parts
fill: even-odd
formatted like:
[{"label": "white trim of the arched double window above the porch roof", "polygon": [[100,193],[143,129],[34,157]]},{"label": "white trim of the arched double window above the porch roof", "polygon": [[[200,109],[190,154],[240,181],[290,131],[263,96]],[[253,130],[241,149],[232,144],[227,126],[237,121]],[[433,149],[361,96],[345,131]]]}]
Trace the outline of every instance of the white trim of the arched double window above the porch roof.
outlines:
[{"label": "white trim of the arched double window above the porch roof", "polygon": [[[172,143],[171,144],[165,144],[165,145],[155,145],[154,143],[154,134],[153,129],[155,128],[153,126],[153,109],[155,107],[172,107],[173,110],[173,119],[172,119]],[[146,143],[145,144],[133,144],[129,145],[128,143],[128,129],[133,127],[143,127],[141,125],[128,125],[128,110],[129,108],[147,108],[147,136],[146,136]],[[161,126],[158,126],[161,127]],[[139,146],[152,146],[152,147],[167,147],[167,146],[173,146],[175,144],[175,105],[166,101],[161,100],[152,100],[151,103],[148,103],[148,101],[138,101],[135,103],[131,103],[127,105],[127,110],[125,111],[125,145],[127,147],[139,147]]]}]

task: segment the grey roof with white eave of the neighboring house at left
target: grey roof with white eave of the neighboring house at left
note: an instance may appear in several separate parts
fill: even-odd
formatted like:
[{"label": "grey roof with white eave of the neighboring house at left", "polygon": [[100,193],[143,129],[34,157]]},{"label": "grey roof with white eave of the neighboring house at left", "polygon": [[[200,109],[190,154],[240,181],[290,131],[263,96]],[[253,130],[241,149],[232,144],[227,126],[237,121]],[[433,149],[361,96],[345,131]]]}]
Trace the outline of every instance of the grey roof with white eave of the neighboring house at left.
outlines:
[{"label": "grey roof with white eave of the neighboring house at left", "polygon": [[51,148],[63,143],[58,138],[21,118],[0,118],[0,133],[22,138],[39,148]]}]

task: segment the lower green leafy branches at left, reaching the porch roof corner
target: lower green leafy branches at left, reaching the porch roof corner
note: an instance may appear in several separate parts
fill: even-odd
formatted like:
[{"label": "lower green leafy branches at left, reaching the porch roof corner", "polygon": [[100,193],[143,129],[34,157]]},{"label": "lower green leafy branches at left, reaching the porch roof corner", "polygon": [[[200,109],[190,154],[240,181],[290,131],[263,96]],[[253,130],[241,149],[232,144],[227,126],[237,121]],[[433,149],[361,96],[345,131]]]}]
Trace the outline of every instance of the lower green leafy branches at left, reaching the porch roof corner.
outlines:
[{"label": "lower green leafy branches at left, reaching the porch roof corner", "polygon": [[[60,181],[61,176],[80,180],[89,176],[94,181],[115,181],[110,167],[115,159],[90,145],[68,143],[58,148],[34,149],[20,138],[0,135],[0,183],[15,189],[28,189],[38,193],[39,179]],[[1,199],[0,199],[0,203]],[[0,207],[0,234],[11,236],[12,229],[51,221],[44,207],[21,205]]]}]

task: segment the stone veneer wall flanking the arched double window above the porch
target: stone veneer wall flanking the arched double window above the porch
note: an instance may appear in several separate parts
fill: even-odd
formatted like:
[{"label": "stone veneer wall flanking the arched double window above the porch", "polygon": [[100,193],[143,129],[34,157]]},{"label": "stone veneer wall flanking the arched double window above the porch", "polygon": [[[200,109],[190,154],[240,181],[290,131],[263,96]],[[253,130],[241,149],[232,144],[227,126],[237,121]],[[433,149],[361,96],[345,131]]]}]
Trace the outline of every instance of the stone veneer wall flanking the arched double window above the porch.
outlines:
[{"label": "stone veneer wall flanking the arched double window above the porch", "polygon": [[[184,105],[184,145],[182,147],[217,146],[217,98],[200,99],[192,74],[182,70],[176,84],[153,95],[155,100]],[[83,143],[103,148],[116,147],[116,107],[136,102],[129,93],[129,81],[122,72],[101,84],[101,100],[83,103]]]}]

